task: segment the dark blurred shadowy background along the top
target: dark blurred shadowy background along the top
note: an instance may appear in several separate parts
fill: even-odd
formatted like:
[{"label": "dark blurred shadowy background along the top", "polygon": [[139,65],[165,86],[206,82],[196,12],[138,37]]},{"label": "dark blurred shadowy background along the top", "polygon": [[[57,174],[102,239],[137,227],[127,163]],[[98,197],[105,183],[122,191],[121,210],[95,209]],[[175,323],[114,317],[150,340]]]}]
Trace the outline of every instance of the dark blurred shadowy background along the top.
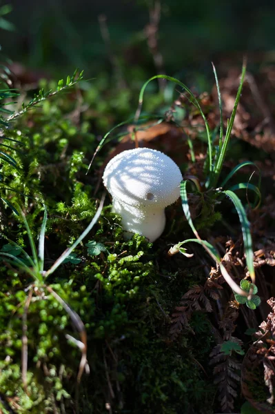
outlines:
[{"label": "dark blurred shadowy background along the top", "polygon": [[8,0],[2,5],[7,3],[12,12],[5,19],[15,30],[1,30],[3,54],[52,74],[77,66],[95,76],[112,66],[123,72],[131,66],[141,77],[143,71],[154,75],[150,35],[171,75],[191,67],[210,72],[212,59],[241,60],[245,51],[250,61],[274,61],[275,3],[267,0],[163,0],[155,27],[154,1]]}]

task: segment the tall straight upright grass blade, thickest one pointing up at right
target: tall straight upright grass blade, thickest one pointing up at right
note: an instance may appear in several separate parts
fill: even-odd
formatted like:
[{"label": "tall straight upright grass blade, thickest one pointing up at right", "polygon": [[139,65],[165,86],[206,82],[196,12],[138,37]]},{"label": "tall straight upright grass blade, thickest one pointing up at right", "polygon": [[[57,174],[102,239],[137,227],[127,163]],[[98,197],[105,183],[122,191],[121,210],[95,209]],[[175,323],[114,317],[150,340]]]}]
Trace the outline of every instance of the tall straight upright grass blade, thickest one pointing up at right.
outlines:
[{"label": "tall straight upright grass blade, thickest one pointing up at right", "polygon": [[220,177],[220,174],[221,174],[221,169],[223,168],[223,162],[225,161],[225,155],[226,155],[226,152],[227,152],[228,144],[230,142],[230,137],[231,137],[231,132],[232,132],[233,124],[234,124],[234,119],[235,119],[236,111],[237,111],[237,108],[238,108],[238,102],[240,101],[241,91],[243,89],[243,82],[245,80],[245,72],[246,72],[246,60],[243,61],[243,69],[242,69],[242,74],[241,74],[240,85],[238,87],[238,92],[237,92],[237,95],[236,95],[232,115],[230,117],[230,120],[229,120],[228,125],[227,125],[227,129],[226,129],[226,132],[225,132],[225,139],[223,141],[223,146],[221,147],[221,151],[218,155],[218,159],[217,159],[216,164],[214,166],[214,173],[212,174],[212,177],[210,179],[210,188],[216,186],[216,183],[218,182],[218,177]]}]

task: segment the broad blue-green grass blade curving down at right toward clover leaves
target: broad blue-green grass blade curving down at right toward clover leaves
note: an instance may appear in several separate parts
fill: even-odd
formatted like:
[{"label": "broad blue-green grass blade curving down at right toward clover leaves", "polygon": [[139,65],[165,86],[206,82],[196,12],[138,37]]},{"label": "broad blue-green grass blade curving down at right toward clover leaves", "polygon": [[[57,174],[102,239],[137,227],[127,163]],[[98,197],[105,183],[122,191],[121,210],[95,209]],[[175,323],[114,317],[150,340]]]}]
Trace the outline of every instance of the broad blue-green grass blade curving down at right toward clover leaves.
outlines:
[{"label": "broad blue-green grass blade curving down at right toward clover leaves", "polygon": [[245,250],[245,258],[247,263],[247,269],[249,271],[250,277],[252,278],[252,282],[255,283],[255,270],[253,266],[253,248],[252,248],[252,236],[250,233],[250,224],[247,219],[247,215],[245,213],[245,209],[243,208],[243,204],[241,203],[241,200],[238,198],[238,196],[233,193],[233,191],[225,190],[223,191],[227,197],[229,197],[234,204],[238,217],[241,222],[241,228],[243,232],[243,245]]}]

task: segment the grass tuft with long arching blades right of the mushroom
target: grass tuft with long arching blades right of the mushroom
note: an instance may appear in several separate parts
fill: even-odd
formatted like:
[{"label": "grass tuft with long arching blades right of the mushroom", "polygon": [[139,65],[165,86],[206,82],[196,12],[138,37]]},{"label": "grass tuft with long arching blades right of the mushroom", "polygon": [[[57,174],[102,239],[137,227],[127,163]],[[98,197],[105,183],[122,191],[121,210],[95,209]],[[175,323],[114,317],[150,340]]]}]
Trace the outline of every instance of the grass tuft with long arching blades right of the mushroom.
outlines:
[{"label": "grass tuft with long arching blades right of the mushroom", "polygon": [[[225,155],[227,152],[227,148],[230,143],[232,127],[233,127],[234,119],[236,116],[236,110],[238,108],[238,102],[241,97],[243,82],[245,80],[246,61],[244,61],[243,63],[240,86],[238,88],[238,92],[236,95],[236,100],[234,103],[232,115],[229,121],[227,122],[227,128],[225,130],[225,135],[223,131],[223,110],[222,110],[222,103],[221,103],[221,93],[220,93],[220,89],[218,85],[218,78],[216,75],[216,69],[214,68],[214,65],[213,65],[213,69],[214,69],[214,76],[216,79],[216,87],[218,90],[218,101],[219,101],[219,108],[220,108],[220,115],[221,115],[220,135],[218,137],[218,145],[216,145],[216,140],[215,140],[216,132],[210,130],[210,126],[203,113],[203,110],[201,109],[200,104],[198,103],[198,100],[196,99],[192,91],[189,88],[187,88],[187,86],[185,86],[184,83],[182,83],[181,81],[173,77],[169,77],[166,75],[157,75],[157,76],[150,78],[147,82],[145,82],[143,88],[141,89],[141,93],[139,96],[139,107],[136,110],[135,120],[136,121],[139,120],[139,116],[141,114],[141,108],[143,104],[143,95],[145,92],[145,88],[147,87],[147,84],[150,83],[150,81],[154,79],[159,79],[159,78],[167,79],[168,81],[172,81],[173,83],[176,83],[177,85],[181,86],[181,88],[183,88],[187,92],[187,98],[189,99],[190,103],[192,103],[198,109],[199,113],[201,114],[201,117],[203,118],[203,121],[205,124],[206,135],[207,135],[207,157],[206,157],[205,167],[204,167],[205,181],[201,183],[198,177],[184,177],[183,181],[181,182],[181,200],[182,200],[183,212],[185,214],[185,217],[188,223],[190,224],[190,227],[192,228],[194,235],[196,236],[196,239],[185,240],[185,242],[181,242],[177,244],[175,246],[175,250],[178,249],[179,251],[181,251],[180,249],[181,246],[187,242],[198,242],[199,244],[201,244],[201,246],[203,246],[203,248],[205,248],[205,250],[210,255],[210,257],[212,257],[212,259],[218,262],[218,264],[220,265],[223,277],[225,277],[226,282],[230,284],[232,289],[234,289],[234,291],[238,293],[239,295],[244,295],[246,297],[248,293],[242,288],[240,288],[240,286],[238,286],[236,282],[234,282],[232,277],[230,277],[229,273],[227,273],[227,270],[221,264],[221,259],[218,253],[216,252],[216,249],[214,248],[214,246],[212,246],[209,242],[202,240],[201,237],[198,235],[198,232],[191,218],[190,208],[188,204],[188,195],[187,195],[187,183],[188,182],[191,182],[193,184],[195,188],[195,195],[198,195],[198,197],[200,197],[201,199],[204,199],[205,195],[207,195],[207,197],[210,197],[210,200],[212,200],[214,204],[220,202],[225,197],[228,197],[232,201],[238,213],[239,219],[241,221],[247,268],[252,278],[252,282],[254,282],[255,272],[254,272],[254,266],[253,266],[252,237],[251,237],[250,230],[249,230],[249,221],[245,213],[245,208],[243,207],[241,200],[234,193],[234,191],[238,189],[252,190],[256,194],[256,197],[258,198],[258,203],[259,203],[261,201],[261,192],[259,190],[260,179],[259,179],[258,186],[254,186],[253,184],[250,184],[249,182],[247,182],[247,183],[237,184],[236,186],[232,186],[231,188],[227,190],[224,190],[223,188],[225,187],[227,182],[233,177],[233,175],[236,174],[238,170],[240,170],[241,168],[247,165],[255,166],[255,164],[252,163],[251,161],[245,161],[242,164],[238,164],[238,166],[236,166],[232,170],[232,172],[230,172],[230,174],[227,175],[227,177],[221,182],[221,184],[219,184],[217,188],[218,180],[221,176],[221,170],[223,168],[223,163],[225,161]],[[171,253],[171,250],[170,250],[170,253]]]}]

